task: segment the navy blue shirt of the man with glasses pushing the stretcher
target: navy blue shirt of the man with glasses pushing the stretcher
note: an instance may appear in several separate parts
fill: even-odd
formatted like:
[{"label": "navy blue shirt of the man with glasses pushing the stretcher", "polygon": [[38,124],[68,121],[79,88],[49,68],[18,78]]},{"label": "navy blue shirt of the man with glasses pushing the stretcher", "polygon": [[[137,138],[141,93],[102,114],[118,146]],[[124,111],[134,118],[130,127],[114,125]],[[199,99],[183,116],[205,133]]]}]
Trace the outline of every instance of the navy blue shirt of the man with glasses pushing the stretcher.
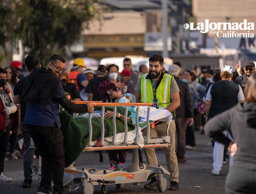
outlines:
[{"label": "navy blue shirt of the man with glasses pushing the stretcher", "polygon": [[[45,95],[47,95],[47,93]],[[66,94],[60,82],[52,100],[46,106],[27,101],[24,124],[53,127],[56,122],[57,127],[60,128],[60,106],[56,99],[64,96],[66,96]]]}]

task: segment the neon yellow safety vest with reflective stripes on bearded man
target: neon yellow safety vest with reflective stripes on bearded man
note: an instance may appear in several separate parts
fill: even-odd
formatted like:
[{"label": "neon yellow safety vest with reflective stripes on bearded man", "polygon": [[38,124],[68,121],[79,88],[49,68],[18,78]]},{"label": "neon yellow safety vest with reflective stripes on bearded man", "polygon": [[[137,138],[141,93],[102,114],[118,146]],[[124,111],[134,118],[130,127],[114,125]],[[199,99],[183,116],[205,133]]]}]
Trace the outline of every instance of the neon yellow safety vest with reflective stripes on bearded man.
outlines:
[{"label": "neon yellow safety vest with reflective stripes on bearded man", "polygon": [[[154,99],[151,79],[146,79],[148,73],[142,75],[140,82],[141,100],[144,103],[152,103]],[[166,108],[171,103],[170,85],[172,75],[164,74],[158,88],[156,98],[158,99],[159,109]],[[146,90],[144,90],[146,88]]]}]

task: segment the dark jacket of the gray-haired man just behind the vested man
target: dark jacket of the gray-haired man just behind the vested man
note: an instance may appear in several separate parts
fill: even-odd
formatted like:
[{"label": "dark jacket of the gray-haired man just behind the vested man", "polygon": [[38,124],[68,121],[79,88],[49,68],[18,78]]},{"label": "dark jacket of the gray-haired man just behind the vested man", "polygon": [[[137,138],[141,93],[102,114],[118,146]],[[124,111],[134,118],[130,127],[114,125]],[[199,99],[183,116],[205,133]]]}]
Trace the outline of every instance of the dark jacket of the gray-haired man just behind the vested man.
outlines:
[{"label": "dark jacket of the gray-haired man just behind the vested man", "polygon": [[176,117],[194,118],[193,100],[188,84],[174,77],[180,89],[180,106],[175,110]]}]

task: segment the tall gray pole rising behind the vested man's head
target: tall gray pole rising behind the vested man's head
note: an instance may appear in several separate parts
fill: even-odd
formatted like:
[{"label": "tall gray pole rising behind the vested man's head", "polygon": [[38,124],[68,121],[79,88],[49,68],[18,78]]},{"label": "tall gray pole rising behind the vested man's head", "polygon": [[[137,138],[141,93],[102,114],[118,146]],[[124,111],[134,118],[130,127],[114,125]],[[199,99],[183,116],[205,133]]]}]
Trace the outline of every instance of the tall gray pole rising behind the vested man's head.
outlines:
[{"label": "tall gray pole rising behind the vested man's head", "polygon": [[162,50],[163,57],[169,57],[167,50],[167,33],[168,33],[168,4],[167,0],[162,0],[162,40],[164,48]]}]

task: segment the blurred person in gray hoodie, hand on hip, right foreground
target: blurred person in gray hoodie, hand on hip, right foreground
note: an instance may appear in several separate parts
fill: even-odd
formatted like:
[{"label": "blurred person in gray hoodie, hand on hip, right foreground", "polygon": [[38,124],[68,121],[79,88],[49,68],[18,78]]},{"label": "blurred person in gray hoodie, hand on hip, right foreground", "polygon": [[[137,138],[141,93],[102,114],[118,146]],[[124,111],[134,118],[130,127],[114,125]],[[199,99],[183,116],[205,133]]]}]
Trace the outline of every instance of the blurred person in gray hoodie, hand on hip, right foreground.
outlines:
[{"label": "blurred person in gray hoodie, hand on hip, right foreground", "polygon": [[222,131],[233,136],[233,163],[226,178],[227,194],[254,194],[256,191],[256,73],[245,88],[245,102],[210,119],[205,134],[229,146],[233,142]]}]

